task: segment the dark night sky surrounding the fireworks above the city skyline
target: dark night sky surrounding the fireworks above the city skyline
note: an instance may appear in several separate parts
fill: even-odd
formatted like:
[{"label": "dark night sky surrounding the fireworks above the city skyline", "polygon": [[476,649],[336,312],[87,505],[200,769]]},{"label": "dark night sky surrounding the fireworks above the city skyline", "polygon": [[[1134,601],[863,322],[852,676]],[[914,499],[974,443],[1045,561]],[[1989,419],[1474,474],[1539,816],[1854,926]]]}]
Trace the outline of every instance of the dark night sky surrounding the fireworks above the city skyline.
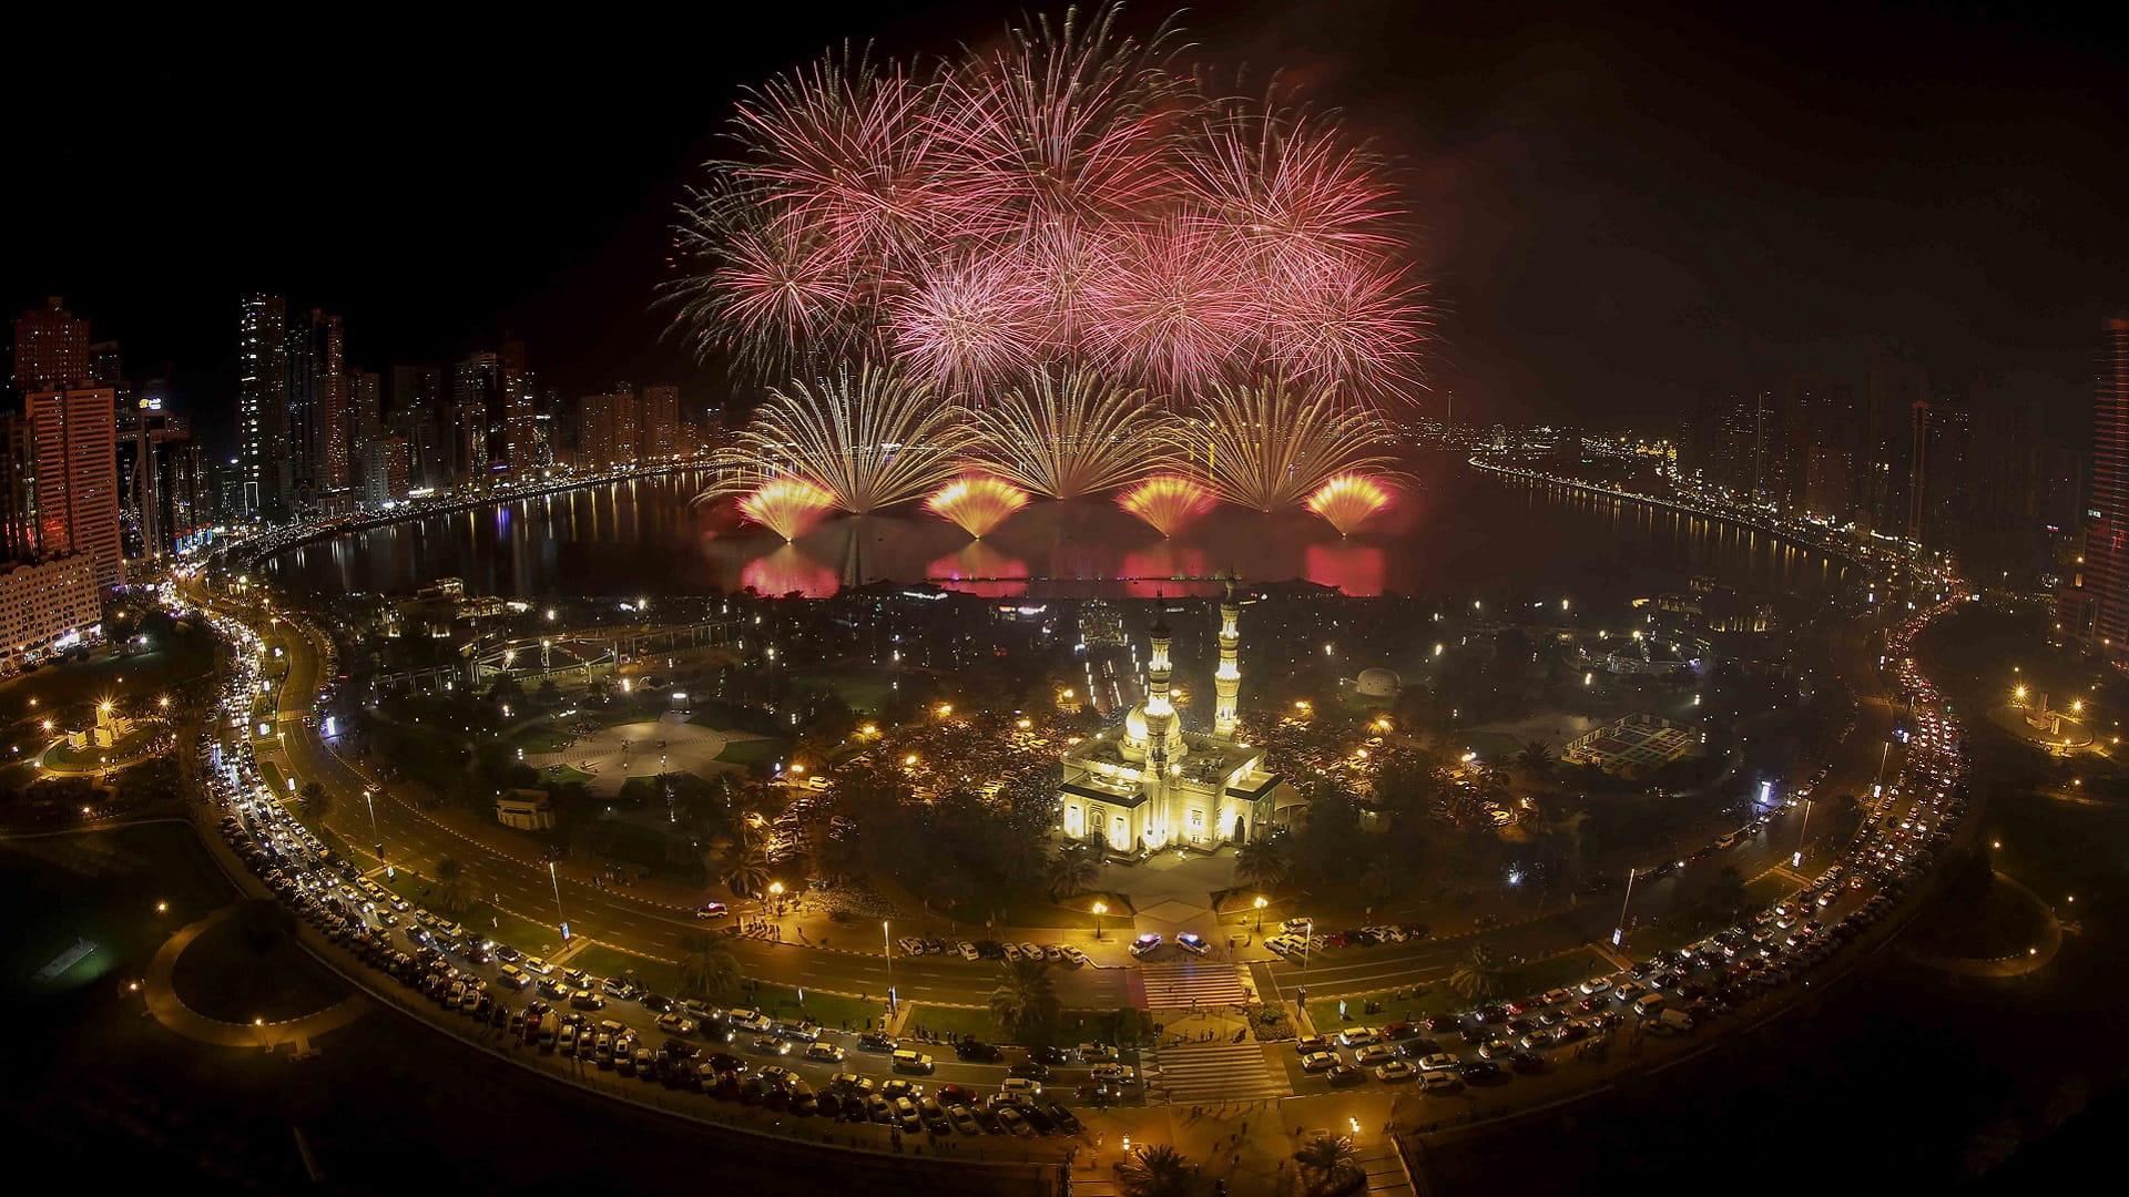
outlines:
[{"label": "dark night sky surrounding the fireworks above the city skyline", "polygon": [[[11,311],[64,294],[232,405],[236,302],[347,319],[351,362],[511,332],[543,381],[722,392],[647,311],[737,89],[839,38],[988,40],[1020,4],[700,4],[660,23],[304,26],[283,53],[121,51],[17,89]],[[1056,11],[1043,6],[1041,11]],[[2099,6],[2086,9],[2099,21]],[[2010,13],[2010,11],[2008,11]],[[1148,28],[1165,6],[1137,4]],[[1905,354],[1991,373],[2076,434],[2129,307],[2114,30],[1869,4],[1207,2],[1194,58],[1284,68],[1409,170],[1435,392],[1471,420],[1676,417],[1695,396]],[[57,77],[55,77],[57,81]]]}]

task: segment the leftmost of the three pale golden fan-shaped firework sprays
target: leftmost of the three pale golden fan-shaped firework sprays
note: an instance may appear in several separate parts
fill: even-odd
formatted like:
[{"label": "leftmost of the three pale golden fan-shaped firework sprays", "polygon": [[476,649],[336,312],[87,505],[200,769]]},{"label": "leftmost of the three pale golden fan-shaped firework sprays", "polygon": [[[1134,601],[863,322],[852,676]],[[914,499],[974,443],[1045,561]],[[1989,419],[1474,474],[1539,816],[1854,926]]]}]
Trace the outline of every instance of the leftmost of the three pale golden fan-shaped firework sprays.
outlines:
[{"label": "leftmost of the three pale golden fan-shaped firework sprays", "polygon": [[730,479],[749,473],[788,473],[862,515],[943,486],[973,437],[967,417],[928,386],[875,366],[845,368],[813,386],[769,392],[711,469],[726,479],[717,492],[739,488]]}]

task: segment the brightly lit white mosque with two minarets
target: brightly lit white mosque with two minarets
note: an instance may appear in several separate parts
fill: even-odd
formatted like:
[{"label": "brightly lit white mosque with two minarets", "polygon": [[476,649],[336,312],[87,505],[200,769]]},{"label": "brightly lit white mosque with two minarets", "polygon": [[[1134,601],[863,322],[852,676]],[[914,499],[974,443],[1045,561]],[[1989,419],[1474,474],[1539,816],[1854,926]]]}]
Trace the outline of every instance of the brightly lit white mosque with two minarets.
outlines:
[{"label": "brightly lit white mosque with two minarets", "polygon": [[1228,586],[1220,601],[1220,669],[1214,673],[1211,733],[1182,728],[1169,703],[1169,626],[1156,618],[1145,662],[1145,701],[1064,754],[1058,801],[1071,839],[1101,837],[1111,852],[1169,846],[1216,848],[1271,833],[1292,786],[1265,771],[1265,750],[1235,741],[1241,694],[1241,607]]}]

